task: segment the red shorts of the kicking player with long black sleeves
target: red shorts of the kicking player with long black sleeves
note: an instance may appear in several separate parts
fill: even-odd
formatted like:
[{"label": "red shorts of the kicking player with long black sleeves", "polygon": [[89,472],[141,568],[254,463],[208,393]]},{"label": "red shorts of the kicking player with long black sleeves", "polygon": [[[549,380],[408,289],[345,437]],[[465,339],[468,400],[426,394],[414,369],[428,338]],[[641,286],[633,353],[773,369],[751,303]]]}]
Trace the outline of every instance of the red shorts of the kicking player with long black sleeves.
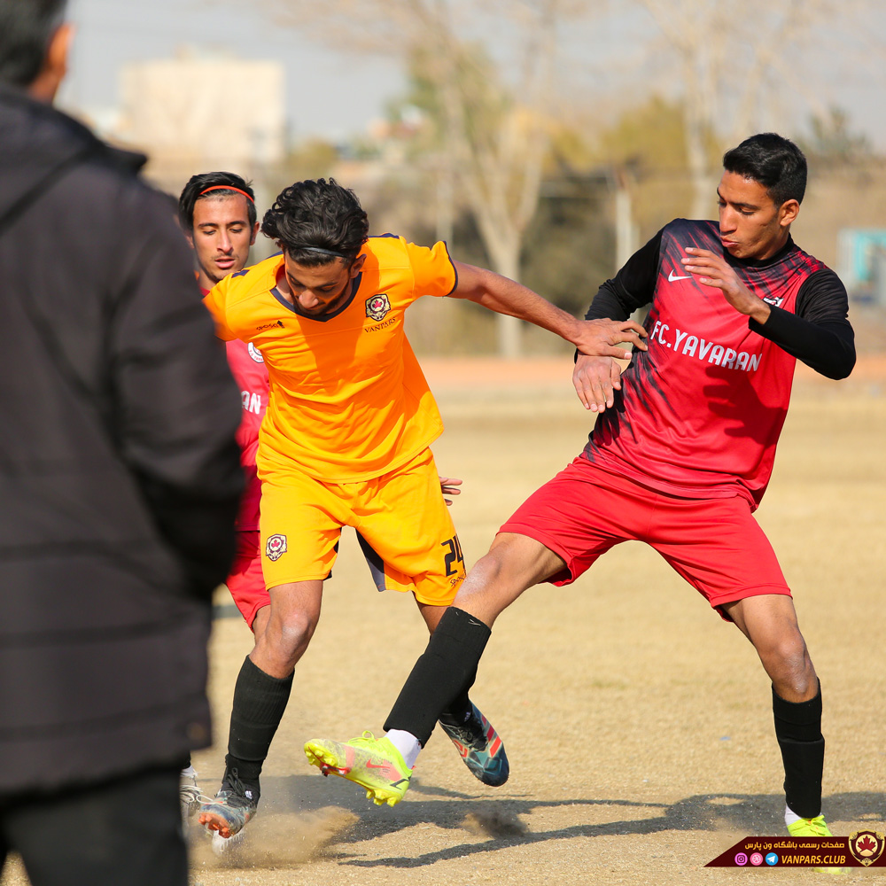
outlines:
[{"label": "red shorts of the kicking player with long black sleeves", "polygon": [[645,541],[711,606],[790,590],[772,545],[741,496],[684,499],[601,470],[579,455],[501,527],[540,541],[566,569],[568,585],[621,541]]}]

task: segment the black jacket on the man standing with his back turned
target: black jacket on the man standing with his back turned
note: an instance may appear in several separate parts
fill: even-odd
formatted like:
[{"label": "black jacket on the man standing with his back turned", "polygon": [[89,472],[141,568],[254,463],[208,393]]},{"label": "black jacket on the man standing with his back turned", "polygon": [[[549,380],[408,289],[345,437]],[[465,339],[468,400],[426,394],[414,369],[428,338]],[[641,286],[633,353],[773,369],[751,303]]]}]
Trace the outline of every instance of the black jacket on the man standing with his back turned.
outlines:
[{"label": "black jacket on the man standing with his back turned", "polygon": [[142,162],[0,89],[0,795],[209,742],[239,398]]}]

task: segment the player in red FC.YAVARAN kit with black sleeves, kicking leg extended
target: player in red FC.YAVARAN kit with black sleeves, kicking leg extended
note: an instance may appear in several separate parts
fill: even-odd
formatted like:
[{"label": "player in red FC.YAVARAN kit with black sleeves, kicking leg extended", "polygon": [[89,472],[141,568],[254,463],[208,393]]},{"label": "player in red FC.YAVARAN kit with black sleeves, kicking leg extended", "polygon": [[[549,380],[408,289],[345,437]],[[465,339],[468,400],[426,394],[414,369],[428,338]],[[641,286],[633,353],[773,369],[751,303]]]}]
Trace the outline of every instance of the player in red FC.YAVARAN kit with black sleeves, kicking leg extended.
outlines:
[{"label": "player in red FC.YAVARAN kit with black sleeves, kicking leg extended", "polygon": [[[672,221],[602,284],[587,319],[623,319],[651,302],[648,350],[624,373],[610,358],[577,355],[579,399],[600,414],[587,446],[501,526],[385,728],[404,742],[398,750],[424,746],[448,699],[472,685],[501,610],[539,582],[569,584],[621,541],[643,540],[757,649],[772,680],[789,833],[825,836],[819,679],[752,512],[795,362],[846,377],[854,336],[843,284],[790,237],[806,183],[802,152],[764,133],[727,152],[724,167],[719,224]],[[378,766],[385,751],[370,750]],[[351,744],[329,740],[306,751],[337,774],[336,761],[354,757]]]}]

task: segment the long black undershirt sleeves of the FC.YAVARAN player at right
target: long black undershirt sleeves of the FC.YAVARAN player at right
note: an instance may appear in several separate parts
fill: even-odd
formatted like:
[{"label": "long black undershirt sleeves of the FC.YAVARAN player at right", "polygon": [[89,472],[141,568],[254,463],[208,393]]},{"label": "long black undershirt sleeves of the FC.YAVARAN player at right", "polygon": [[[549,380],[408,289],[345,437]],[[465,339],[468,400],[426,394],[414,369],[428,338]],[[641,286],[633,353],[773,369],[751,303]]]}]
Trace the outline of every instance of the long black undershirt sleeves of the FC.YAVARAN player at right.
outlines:
[{"label": "long black undershirt sleeves of the FC.YAVARAN player at right", "polygon": [[[597,292],[586,320],[626,320],[652,300],[658,276],[662,231],[633,253],[615,277]],[[789,249],[789,241],[785,249]],[[797,293],[796,313],[771,307],[766,323],[748,321],[750,330],[828,378],[845,378],[855,366],[855,333],[847,319],[849,299],[830,268],[808,276]]]}]

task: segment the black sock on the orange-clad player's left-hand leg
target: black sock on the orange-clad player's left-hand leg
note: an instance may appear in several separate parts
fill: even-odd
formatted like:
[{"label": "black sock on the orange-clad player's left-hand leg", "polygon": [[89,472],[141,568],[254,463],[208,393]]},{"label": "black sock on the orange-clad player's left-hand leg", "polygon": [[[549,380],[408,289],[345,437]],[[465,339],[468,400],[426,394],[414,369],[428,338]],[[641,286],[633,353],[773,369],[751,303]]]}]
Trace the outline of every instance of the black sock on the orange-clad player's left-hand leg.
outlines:
[{"label": "black sock on the orange-clad player's left-hand leg", "polygon": [[292,677],[271,677],[248,656],[237,675],[225,766],[236,768],[237,777],[256,791],[261,765],[289,702]]}]

